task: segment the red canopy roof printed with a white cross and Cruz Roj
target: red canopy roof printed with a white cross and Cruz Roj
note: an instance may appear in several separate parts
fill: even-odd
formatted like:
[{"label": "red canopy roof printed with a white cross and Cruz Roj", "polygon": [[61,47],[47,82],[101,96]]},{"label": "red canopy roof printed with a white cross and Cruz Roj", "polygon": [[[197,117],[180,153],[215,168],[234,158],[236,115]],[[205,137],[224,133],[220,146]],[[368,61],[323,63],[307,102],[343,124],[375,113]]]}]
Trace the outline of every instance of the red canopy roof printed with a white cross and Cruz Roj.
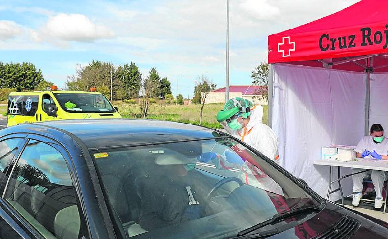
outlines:
[{"label": "red canopy roof printed with a white cross and Cruz Roj", "polygon": [[362,0],[327,17],[270,35],[268,63],[365,71],[363,59],[373,57],[374,71],[386,72],[386,10],[388,1]]}]

